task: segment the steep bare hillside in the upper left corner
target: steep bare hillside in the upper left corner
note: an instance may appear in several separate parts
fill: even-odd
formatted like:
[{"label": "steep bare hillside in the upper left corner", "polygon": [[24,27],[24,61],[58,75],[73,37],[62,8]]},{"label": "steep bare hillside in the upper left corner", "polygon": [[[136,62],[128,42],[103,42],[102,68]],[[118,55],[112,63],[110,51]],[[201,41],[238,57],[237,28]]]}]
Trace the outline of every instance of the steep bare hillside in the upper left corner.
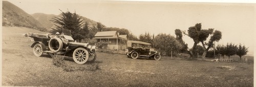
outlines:
[{"label": "steep bare hillside in the upper left corner", "polygon": [[8,1],[3,1],[2,24],[3,26],[28,27],[45,31],[45,28],[34,17]]}]

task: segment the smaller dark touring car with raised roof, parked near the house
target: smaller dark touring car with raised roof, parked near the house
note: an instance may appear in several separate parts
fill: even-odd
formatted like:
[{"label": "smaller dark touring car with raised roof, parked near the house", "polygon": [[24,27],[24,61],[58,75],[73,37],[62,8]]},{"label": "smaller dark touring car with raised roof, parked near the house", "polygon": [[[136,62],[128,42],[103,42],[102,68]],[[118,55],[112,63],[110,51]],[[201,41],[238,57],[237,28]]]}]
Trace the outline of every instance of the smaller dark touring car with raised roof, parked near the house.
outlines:
[{"label": "smaller dark touring car with raised roof, parked near the house", "polygon": [[139,56],[154,58],[155,60],[160,60],[161,58],[159,52],[151,49],[151,44],[142,41],[128,40],[125,53],[128,57],[132,57],[133,59],[137,59]]}]

